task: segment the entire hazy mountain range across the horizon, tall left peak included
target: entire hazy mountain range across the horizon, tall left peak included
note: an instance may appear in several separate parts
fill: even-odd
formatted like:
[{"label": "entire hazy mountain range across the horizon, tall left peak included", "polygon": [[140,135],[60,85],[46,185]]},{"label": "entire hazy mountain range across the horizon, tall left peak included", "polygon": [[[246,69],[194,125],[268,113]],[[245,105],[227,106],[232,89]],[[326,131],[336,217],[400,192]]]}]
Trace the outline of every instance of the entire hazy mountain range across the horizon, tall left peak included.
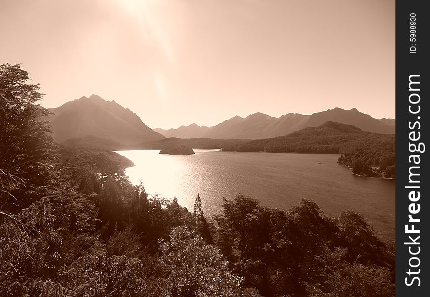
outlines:
[{"label": "entire hazy mountain range across the horizon, tall left peak included", "polygon": [[[106,101],[97,95],[85,96],[49,109],[48,120],[54,132],[54,140],[63,143],[113,142],[112,146],[136,145],[164,138],[207,139],[263,139],[284,136],[307,127],[316,127],[327,121],[353,125],[363,131],[395,134],[394,119],[375,119],[357,109],[328,109],[311,115],[288,113],[279,118],[260,112],[245,118],[234,116],[213,127],[191,124],[177,129],[154,129],[146,126],[129,108],[114,100]],[[88,138],[89,136],[95,137]]]}]

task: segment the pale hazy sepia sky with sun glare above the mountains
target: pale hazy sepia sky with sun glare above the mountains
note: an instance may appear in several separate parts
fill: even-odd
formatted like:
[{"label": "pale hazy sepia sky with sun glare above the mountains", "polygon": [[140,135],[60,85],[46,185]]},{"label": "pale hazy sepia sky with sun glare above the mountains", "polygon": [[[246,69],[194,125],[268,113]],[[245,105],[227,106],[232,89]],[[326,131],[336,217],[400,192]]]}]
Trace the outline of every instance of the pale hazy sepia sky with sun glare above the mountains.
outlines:
[{"label": "pale hazy sepia sky with sun glare above the mountains", "polygon": [[151,128],[395,116],[394,0],[0,0],[0,36],[45,107],[97,94]]}]

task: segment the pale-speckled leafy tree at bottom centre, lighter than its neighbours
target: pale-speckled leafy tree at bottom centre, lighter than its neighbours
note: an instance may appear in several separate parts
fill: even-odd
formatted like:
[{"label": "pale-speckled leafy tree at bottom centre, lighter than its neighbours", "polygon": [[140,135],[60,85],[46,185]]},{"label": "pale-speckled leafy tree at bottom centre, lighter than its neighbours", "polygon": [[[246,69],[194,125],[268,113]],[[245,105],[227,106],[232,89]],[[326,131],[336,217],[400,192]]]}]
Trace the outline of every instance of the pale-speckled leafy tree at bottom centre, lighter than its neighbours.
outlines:
[{"label": "pale-speckled leafy tree at bottom centre, lighter than its neighbours", "polygon": [[258,296],[244,292],[242,278],[232,274],[218,248],[207,245],[186,227],[177,227],[161,245],[166,275],[156,296]]}]

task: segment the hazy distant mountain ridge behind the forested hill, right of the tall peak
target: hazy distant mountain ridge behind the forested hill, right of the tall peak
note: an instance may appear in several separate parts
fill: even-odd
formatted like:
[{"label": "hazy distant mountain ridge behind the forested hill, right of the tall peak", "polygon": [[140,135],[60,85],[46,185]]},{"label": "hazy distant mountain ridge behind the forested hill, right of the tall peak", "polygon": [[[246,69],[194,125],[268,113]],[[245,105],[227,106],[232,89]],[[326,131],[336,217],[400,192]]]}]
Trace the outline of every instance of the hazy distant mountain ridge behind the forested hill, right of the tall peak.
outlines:
[{"label": "hazy distant mountain ridge behind the forested hill, right of the tall peak", "polygon": [[232,117],[213,127],[192,124],[178,129],[154,129],[166,137],[216,138],[216,139],[261,139],[284,136],[307,127],[317,127],[327,121],[353,125],[363,131],[395,134],[395,119],[375,119],[356,108],[345,110],[339,107],[311,115],[288,113],[279,118],[260,112],[245,118]]}]

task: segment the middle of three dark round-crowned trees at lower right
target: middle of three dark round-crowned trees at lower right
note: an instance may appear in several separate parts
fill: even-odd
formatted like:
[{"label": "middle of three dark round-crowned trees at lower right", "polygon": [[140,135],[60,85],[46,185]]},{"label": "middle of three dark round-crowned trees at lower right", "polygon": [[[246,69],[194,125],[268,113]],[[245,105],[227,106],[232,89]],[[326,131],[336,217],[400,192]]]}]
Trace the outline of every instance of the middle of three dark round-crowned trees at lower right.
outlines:
[{"label": "middle of three dark round-crowned trees at lower right", "polygon": [[[319,206],[309,199],[302,199],[284,215],[277,214],[276,221],[277,232],[273,233],[272,248],[276,265],[279,265],[277,269],[283,276],[281,283],[284,283],[284,288],[280,289],[293,297],[306,296],[307,283],[318,277],[318,255],[330,243],[336,228]],[[279,282],[279,278],[272,280],[273,287],[276,281]]]}]

